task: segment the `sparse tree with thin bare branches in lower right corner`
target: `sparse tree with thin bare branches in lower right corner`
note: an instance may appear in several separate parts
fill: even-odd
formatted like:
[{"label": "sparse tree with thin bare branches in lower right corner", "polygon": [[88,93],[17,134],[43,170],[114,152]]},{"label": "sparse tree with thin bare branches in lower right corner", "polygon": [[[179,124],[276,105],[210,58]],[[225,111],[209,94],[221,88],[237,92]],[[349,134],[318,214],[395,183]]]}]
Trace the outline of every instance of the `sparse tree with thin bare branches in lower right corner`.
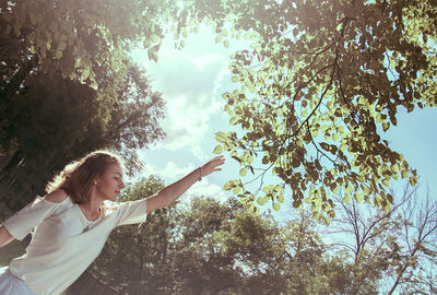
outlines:
[{"label": "sparse tree with thin bare branches in lower right corner", "polygon": [[329,232],[339,234],[333,246],[346,249],[351,261],[347,294],[370,294],[369,286],[375,294],[434,292],[437,203],[428,196],[418,198],[411,186],[397,197],[388,212],[338,201],[340,214]]}]

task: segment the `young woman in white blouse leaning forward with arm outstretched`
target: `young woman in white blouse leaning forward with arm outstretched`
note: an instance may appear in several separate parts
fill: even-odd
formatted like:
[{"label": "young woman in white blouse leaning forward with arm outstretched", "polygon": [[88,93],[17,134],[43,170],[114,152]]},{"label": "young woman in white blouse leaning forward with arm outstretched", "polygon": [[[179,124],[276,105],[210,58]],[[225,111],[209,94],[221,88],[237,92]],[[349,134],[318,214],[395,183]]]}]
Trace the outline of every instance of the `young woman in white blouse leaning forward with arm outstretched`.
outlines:
[{"label": "young woman in white blouse leaning forward with arm outstretched", "polygon": [[223,164],[223,156],[214,157],[155,196],[119,203],[123,165],[116,154],[96,151],[67,165],[44,198],[0,226],[0,247],[35,228],[26,253],[0,269],[0,294],[60,294],[98,256],[115,227],[144,222],[147,212],[169,205]]}]

